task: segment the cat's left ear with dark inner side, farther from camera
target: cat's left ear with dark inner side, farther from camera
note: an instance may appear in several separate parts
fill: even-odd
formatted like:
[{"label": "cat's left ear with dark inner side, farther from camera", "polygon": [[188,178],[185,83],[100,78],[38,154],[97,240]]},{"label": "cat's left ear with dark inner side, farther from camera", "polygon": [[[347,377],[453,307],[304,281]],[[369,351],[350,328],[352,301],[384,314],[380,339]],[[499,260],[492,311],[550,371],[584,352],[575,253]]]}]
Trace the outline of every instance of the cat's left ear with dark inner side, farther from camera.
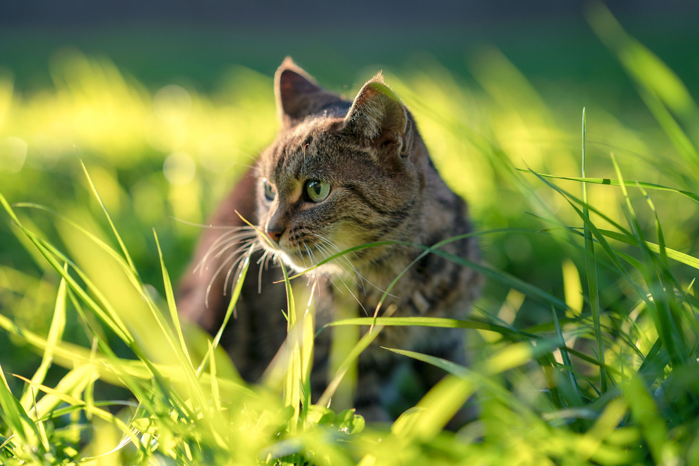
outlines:
[{"label": "cat's left ear with dark inner side, farther from camera", "polygon": [[274,76],[277,115],[282,128],[289,128],[339,98],[316,84],[308,73],[287,57]]}]

